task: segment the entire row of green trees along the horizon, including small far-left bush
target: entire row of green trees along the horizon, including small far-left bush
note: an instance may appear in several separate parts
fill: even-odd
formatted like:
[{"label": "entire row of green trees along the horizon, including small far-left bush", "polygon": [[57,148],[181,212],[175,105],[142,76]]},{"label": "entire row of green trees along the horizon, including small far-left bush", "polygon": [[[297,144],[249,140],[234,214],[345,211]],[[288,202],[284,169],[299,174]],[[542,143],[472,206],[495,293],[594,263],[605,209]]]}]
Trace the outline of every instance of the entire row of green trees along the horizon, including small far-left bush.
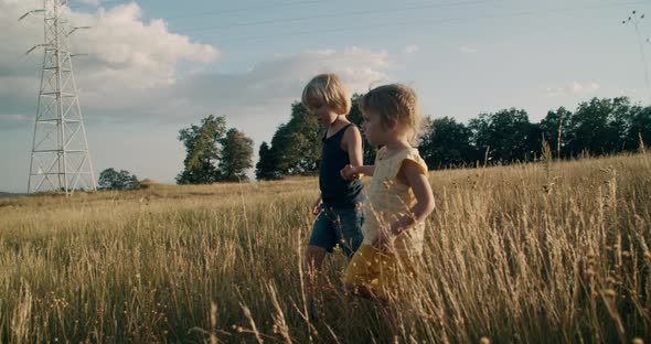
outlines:
[{"label": "entire row of green trees along the horizon, including small far-left bush", "polygon": [[[353,95],[349,119],[362,126]],[[257,180],[289,175],[313,175],[319,170],[324,130],[300,103],[291,104],[288,122],[276,129],[270,142],[262,142],[255,165]],[[224,116],[207,116],[199,125],[179,131],[186,157],[178,184],[210,184],[247,181],[253,168],[253,140],[235,128],[226,128]],[[426,118],[419,151],[430,169],[508,164],[541,159],[542,147],[557,159],[632,152],[651,140],[651,106],[631,104],[628,97],[593,98],[574,111],[559,107],[540,122],[531,122],[523,109],[510,108],[479,114],[462,123],[452,117]],[[364,140],[364,163],[375,159],[376,148]],[[137,189],[138,180],[127,171],[108,169],[100,187]]]}]

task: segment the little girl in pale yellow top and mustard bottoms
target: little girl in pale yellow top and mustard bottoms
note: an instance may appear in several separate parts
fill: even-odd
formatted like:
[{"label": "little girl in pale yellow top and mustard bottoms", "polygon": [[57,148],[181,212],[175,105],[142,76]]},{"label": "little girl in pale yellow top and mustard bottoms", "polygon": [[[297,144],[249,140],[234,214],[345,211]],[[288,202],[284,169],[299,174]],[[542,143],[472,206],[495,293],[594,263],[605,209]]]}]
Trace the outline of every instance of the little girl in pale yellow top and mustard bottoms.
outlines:
[{"label": "little girl in pale yellow top and mustard bottoms", "polygon": [[416,272],[415,262],[423,254],[424,219],[435,207],[427,165],[412,147],[420,123],[418,100],[412,88],[393,84],[369,92],[360,99],[360,109],[364,136],[383,147],[374,165],[346,165],[341,171],[349,180],[373,176],[364,206],[364,240],[344,281],[365,297],[401,298],[413,280],[405,277]]}]

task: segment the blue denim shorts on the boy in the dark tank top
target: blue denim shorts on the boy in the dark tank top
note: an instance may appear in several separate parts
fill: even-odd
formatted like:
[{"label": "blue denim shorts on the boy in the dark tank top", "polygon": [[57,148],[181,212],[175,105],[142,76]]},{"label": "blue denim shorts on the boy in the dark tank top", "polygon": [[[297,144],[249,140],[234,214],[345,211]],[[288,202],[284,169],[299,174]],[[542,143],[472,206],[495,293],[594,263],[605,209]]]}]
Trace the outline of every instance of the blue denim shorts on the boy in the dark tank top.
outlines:
[{"label": "blue denim shorts on the boy in the dark tank top", "polygon": [[344,255],[352,257],[364,238],[362,211],[356,208],[333,208],[321,203],[308,245],[332,252],[339,245]]}]

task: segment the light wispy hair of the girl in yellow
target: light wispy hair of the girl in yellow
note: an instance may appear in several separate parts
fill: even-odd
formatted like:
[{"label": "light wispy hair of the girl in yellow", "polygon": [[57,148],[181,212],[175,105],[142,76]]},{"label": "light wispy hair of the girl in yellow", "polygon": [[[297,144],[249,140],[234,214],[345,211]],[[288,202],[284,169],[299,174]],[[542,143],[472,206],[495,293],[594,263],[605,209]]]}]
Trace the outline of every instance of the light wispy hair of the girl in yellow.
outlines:
[{"label": "light wispy hair of the girl in yellow", "polygon": [[360,110],[362,114],[374,111],[385,125],[391,119],[395,120],[398,127],[410,132],[412,144],[417,144],[423,118],[418,97],[410,87],[391,84],[373,88],[360,99]]}]

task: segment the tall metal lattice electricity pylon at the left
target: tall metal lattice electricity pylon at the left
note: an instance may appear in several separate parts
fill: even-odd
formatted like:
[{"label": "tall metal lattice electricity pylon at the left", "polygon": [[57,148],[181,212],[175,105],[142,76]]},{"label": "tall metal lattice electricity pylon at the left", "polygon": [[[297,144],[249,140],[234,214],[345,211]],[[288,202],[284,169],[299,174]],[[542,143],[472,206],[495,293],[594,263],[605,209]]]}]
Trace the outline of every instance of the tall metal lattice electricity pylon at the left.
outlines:
[{"label": "tall metal lattice electricity pylon at the left", "polygon": [[97,190],[68,47],[68,36],[87,26],[68,26],[66,8],[67,0],[44,0],[20,18],[43,13],[45,32],[45,42],[28,51],[44,49],[28,193]]}]

